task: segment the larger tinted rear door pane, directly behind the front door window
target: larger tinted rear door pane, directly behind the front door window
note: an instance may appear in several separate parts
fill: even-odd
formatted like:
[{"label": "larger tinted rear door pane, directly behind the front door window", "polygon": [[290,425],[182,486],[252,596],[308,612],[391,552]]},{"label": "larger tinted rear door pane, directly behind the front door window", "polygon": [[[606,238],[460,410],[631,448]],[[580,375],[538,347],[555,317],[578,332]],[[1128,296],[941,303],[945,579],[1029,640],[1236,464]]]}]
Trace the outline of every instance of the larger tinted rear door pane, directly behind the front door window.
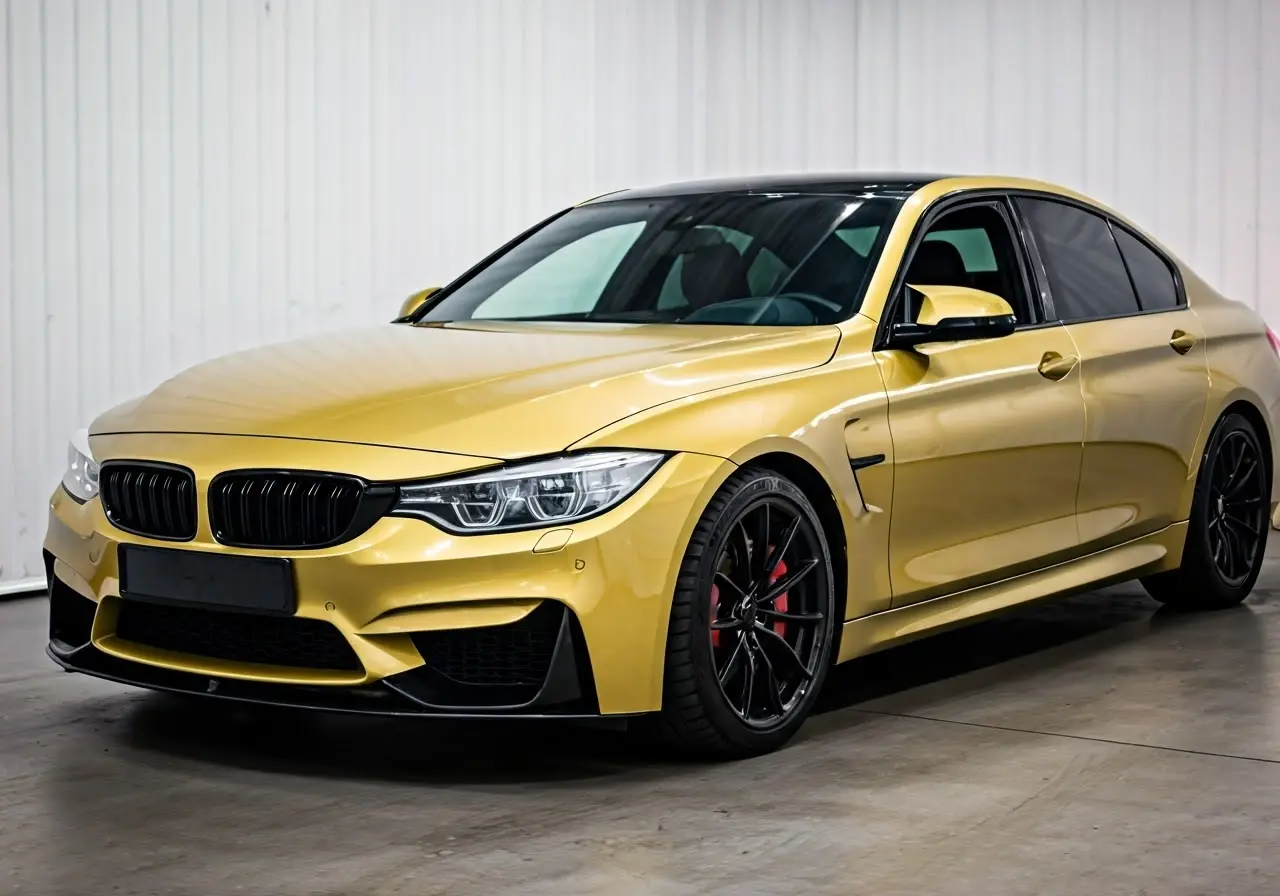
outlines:
[{"label": "larger tinted rear door pane, directly behind the front door window", "polygon": [[1048,200],[1019,200],[1039,244],[1061,320],[1135,314],[1138,298],[1105,218]]}]

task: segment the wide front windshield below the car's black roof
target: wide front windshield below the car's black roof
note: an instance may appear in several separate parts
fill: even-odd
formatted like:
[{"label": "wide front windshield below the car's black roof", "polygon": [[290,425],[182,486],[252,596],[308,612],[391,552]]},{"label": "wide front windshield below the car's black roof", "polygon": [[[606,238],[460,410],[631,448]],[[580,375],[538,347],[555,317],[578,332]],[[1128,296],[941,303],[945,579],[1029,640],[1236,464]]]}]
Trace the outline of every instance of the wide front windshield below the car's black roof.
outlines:
[{"label": "wide front windshield below the car's black roof", "polygon": [[416,323],[832,324],[863,301],[900,198],[701,195],[571,209]]}]

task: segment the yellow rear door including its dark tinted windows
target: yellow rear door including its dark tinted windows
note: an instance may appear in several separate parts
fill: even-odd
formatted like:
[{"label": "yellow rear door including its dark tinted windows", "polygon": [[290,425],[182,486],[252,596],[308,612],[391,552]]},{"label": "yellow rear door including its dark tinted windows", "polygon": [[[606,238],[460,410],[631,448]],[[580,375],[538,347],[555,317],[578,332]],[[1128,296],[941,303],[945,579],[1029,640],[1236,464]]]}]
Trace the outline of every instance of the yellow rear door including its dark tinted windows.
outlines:
[{"label": "yellow rear door including its dark tinted windows", "polygon": [[1036,196],[1018,207],[1055,316],[1080,352],[1082,547],[1157,531],[1185,517],[1210,385],[1203,332],[1176,268],[1096,210]]}]

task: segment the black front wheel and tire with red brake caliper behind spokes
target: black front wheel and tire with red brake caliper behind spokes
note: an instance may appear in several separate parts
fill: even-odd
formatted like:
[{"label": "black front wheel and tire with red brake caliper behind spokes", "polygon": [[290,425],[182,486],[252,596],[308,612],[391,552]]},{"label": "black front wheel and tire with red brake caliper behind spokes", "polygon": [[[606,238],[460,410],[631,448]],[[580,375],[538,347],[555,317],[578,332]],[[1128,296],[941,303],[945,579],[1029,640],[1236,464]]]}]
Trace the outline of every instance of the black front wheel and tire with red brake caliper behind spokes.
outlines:
[{"label": "black front wheel and tire with red brake caliper behind spokes", "polygon": [[[790,539],[788,513],[794,515]],[[762,531],[768,536],[759,538]],[[769,567],[776,544],[763,562],[762,554],[751,553],[751,545],[762,541],[783,545],[776,568]],[[791,590],[768,599],[792,577],[797,581]],[[663,707],[652,719],[662,740],[685,756],[710,759],[759,755],[786,744],[813,709],[831,667],[833,582],[827,536],[805,494],[771,470],[742,470],[730,477],[694,527],[681,563],[667,631]],[[718,626],[736,627],[713,632],[713,613]],[[820,621],[800,621],[818,614]],[[778,643],[788,639],[799,666]],[[746,677],[756,672],[763,685]],[[728,676],[724,684],[722,676]],[[768,691],[773,685],[776,701]],[[760,718],[750,718],[754,709]],[[771,718],[777,709],[783,712]]]}]

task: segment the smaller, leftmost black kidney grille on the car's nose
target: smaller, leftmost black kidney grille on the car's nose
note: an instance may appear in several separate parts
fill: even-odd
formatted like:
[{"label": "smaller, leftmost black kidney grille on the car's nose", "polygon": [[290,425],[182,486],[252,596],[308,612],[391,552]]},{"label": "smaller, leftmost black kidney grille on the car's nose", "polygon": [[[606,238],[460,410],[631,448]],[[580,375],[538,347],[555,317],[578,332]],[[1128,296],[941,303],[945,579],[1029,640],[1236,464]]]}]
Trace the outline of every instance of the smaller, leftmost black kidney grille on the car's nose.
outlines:
[{"label": "smaller, leftmost black kidney grille on the car's nose", "polygon": [[109,461],[99,494],[116,529],[174,541],[196,538],[196,480],[186,467]]}]

